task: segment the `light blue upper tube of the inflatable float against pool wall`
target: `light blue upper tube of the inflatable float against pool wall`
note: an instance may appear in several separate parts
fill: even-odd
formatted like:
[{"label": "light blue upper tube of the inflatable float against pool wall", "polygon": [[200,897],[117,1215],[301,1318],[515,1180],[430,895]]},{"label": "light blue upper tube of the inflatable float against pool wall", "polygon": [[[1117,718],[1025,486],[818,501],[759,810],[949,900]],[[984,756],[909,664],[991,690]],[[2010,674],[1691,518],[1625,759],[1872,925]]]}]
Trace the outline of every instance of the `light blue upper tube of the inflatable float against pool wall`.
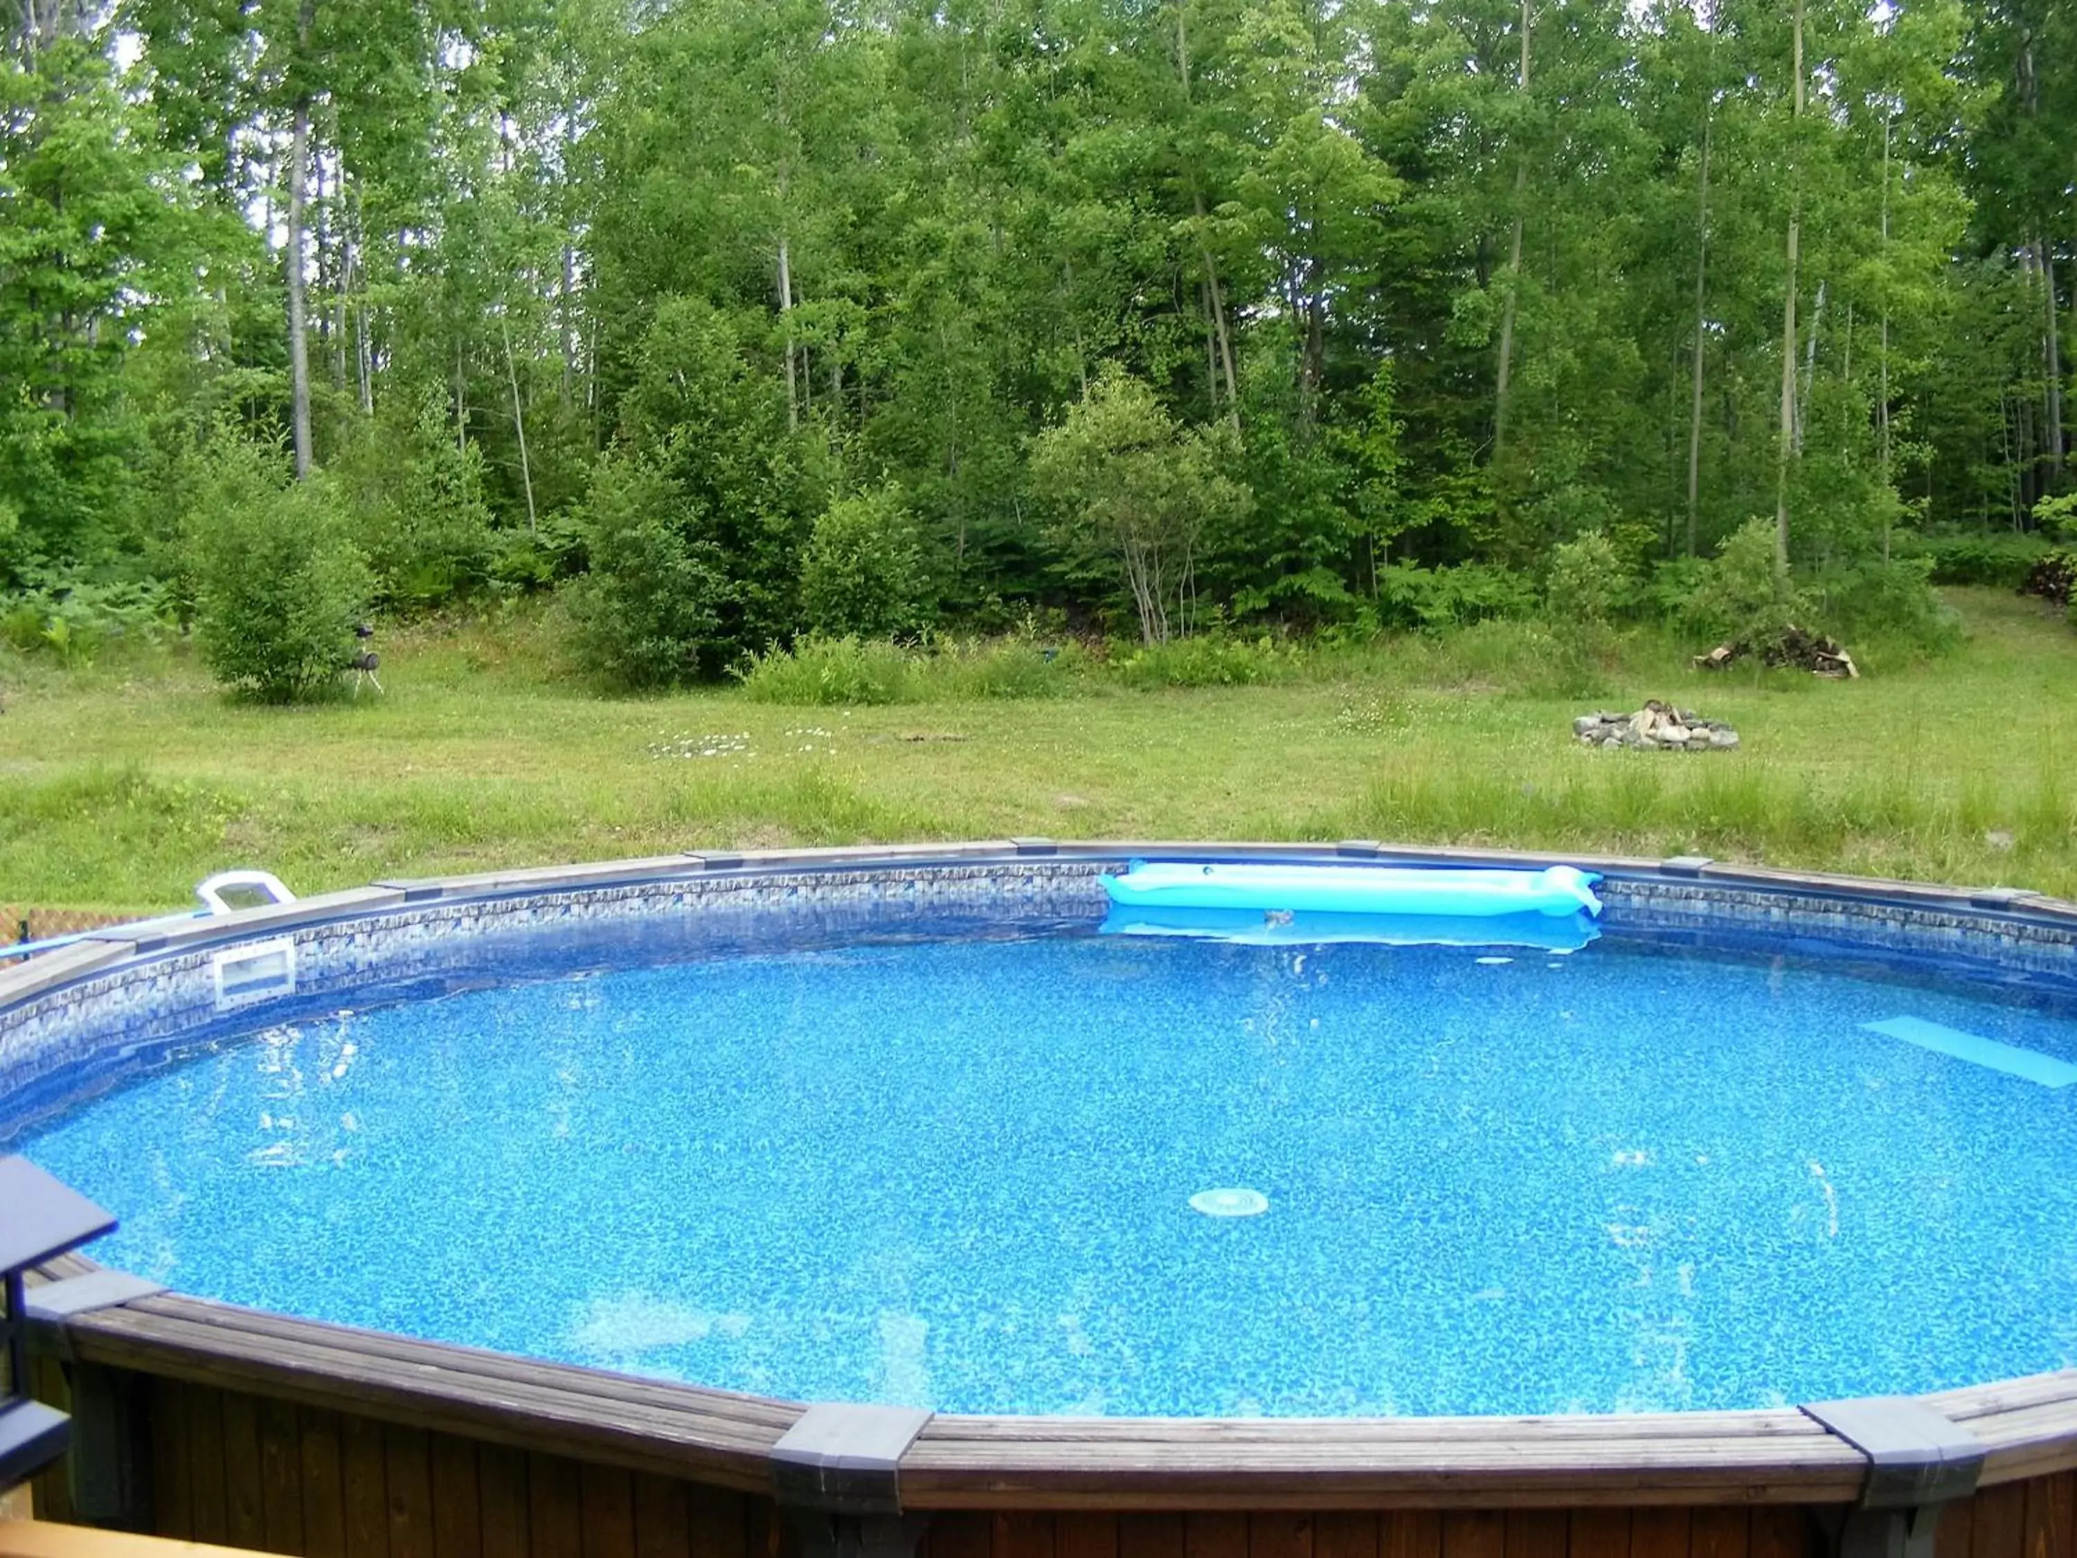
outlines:
[{"label": "light blue upper tube of the inflatable float against pool wall", "polygon": [[1103,887],[1124,908],[1219,908],[1321,914],[1599,914],[1595,872],[1579,866],[1483,870],[1427,866],[1275,866],[1134,860]]}]

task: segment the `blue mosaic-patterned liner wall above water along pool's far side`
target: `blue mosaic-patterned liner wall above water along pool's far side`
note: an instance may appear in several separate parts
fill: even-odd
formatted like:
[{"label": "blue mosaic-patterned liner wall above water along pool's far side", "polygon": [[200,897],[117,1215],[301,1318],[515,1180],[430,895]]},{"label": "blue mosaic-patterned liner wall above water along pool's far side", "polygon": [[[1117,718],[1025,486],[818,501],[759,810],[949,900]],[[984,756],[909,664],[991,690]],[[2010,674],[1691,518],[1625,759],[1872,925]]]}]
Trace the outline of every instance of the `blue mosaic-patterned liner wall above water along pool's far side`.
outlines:
[{"label": "blue mosaic-patterned liner wall above water along pool's far side", "polygon": [[[0,1134],[102,1091],[133,1066],[218,1020],[212,962],[231,945],[291,939],[295,1010],[370,985],[484,974],[501,949],[557,929],[654,922],[654,949],[729,949],[775,924],[841,937],[899,931],[949,910],[1005,926],[1099,916],[1099,877],[1136,856],[1294,860],[1396,860],[1406,864],[1545,864],[1554,856],[1483,850],[1387,850],[1371,843],[1066,843],[773,852],[764,856],[660,856],[650,860],[388,881],[301,899],[222,922],[154,922],[137,943],[112,933],[35,960],[77,976],[0,1003]],[[1699,860],[1587,860],[1603,870],[1603,926],[1666,943],[1711,937],[1741,949],[1811,956],[1853,951],[1936,958],[1963,976],[2027,976],[2077,991],[2077,912],[2071,906],[1963,889],[1716,868]],[[1005,910],[1009,910],[1005,914]],[[675,943],[671,937],[679,937]],[[187,949],[183,949],[187,943]],[[0,976],[0,1001],[6,985]],[[255,1016],[266,1014],[255,1003]],[[285,1014],[289,1001],[278,1005]],[[66,1072],[81,1086],[52,1095]],[[29,1103],[33,1099],[33,1103]]]}]

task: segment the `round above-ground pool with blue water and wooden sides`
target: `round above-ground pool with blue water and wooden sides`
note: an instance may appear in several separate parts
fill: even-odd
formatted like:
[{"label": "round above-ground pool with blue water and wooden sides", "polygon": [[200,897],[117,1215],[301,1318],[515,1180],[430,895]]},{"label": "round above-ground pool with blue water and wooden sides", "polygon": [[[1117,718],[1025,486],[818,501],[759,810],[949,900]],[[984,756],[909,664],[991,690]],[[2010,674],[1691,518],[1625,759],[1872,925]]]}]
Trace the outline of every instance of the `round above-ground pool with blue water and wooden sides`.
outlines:
[{"label": "round above-ground pool with blue water and wooden sides", "polygon": [[[31,1296],[89,1442],[150,1444],[93,1496],[280,1552],[525,1548],[494,1506],[617,1552],[714,1489],[696,1558],[795,1504],[1693,1558],[1959,1500],[1975,1558],[2077,1550],[2077,906],[1614,860],[1597,920],[1147,918],[1132,856],[1543,864],[671,856],[0,968],[0,1147],[123,1219]],[[1068,1554],[1024,1519],[945,1552]]]}]

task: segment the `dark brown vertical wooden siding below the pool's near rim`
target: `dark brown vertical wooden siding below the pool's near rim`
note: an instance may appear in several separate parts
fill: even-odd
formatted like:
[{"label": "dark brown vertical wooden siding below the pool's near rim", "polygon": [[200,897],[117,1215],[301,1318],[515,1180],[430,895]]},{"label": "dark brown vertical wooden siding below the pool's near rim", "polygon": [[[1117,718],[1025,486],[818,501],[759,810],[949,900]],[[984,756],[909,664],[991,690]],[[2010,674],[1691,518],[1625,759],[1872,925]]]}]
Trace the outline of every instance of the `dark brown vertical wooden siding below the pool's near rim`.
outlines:
[{"label": "dark brown vertical wooden siding below the pool's near rim", "polygon": [[[193,1373],[201,1371],[118,1371],[150,1462],[152,1492],[137,1523],[156,1535],[307,1558],[800,1552],[760,1489],[636,1469],[621,1450],[571,1454],[550,1423],[534,1423],[536,1444],[525,1446],[513,1442],[521,1435],[511,1421],[486,1438],[426,1427],[407,1408],[326,1406],[183,1377]],[[39,1359],[35,1386],[69,1404],[69,1371],[54,1356]],[[2077,1381],[2062,1384],[2071,1390]],[[2021,1392],[2019,1413],[2038,1417],[2046,1394]],[[1998,1427],[2008,1417],[1988,1411],[1977,1421]],[[1005,1442],[1009,1425],[995,1427]],[[2042,1458],[2038,1440],[2015,1435],[2011,1421],[2004,1429],[2006,1448],[2027,1446],[2025,1456]],[[1822,1516],[1840,1508],[1770,1502],[1780,1489],[1765,1485],[1724,1485],[1709,1502],[1691,1479],[1641,1485],[1630,1502],[1616,1502],[1614,1489],[1587,1481],[1585,1492],[1549,1494],[1545,1504],[1514,1494],[1510,1504],[1421,1508],[1400,1492],[1377,1508],[1292,1508],[1290,1494],[1282,1508],[1223,1500],[1144,1508],[1134,1506],[1144,1496],[1128,1475],[1109,1494],[1117,1508],[1095,1508],[1086,1496],[1078,1508],[937,1508],[918,1558],[1824,1558]],[[1680,1502],[1653,1502],[1666,1498]],[[66,1469],[39,1479],[37,1510],[75,1516]],[[1952,1504],[1936,1558],[2077,1558],[2077,1471],[2006,1479]]]}]

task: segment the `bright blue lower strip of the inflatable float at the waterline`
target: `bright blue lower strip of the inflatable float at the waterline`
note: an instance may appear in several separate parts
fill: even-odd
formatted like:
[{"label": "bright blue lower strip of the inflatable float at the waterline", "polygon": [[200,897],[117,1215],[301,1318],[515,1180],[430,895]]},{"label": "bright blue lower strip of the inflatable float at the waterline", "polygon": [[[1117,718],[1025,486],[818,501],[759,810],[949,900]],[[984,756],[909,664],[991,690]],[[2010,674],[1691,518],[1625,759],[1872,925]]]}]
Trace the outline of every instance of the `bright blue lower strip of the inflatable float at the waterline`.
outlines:
[{"label": "bright blue lower strip of the inflatable float at the waterline", "polygon": [[1126,908],[1103,916],[1107,937],[1192,937],[1242,947],[1325,947],[1367,941],[1381,947],[1518,947],[1568,953],[1601,931],[1579,914],[1321,914],[1317,910]]}]

